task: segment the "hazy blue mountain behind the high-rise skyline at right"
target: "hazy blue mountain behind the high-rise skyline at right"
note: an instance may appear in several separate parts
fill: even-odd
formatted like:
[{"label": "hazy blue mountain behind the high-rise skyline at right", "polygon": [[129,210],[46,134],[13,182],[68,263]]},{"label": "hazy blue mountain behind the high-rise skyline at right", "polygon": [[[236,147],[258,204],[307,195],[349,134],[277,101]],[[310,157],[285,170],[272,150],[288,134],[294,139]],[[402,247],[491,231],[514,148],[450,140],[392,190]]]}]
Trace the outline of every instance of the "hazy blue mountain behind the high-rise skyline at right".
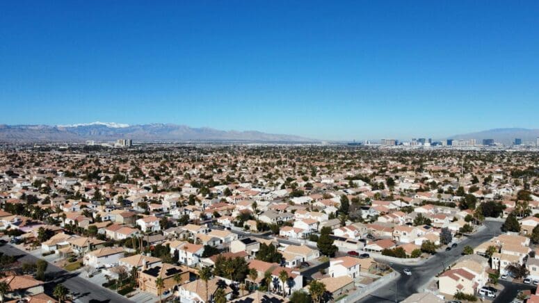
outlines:
[{"label": "hazy blue mountain behind the high-rise skyline at right", "polygon": [[464,133],[461,135],[456,135],[453,139],[494,139],[495,142],[501,142],[504,144],[513,142],[515,138],[522,139],[522,142],[531,141],[536,142],[536,138],[539,137],[539,129],[520,129],[520,128],[509,128],[509,129],[489,129],[487,131],[478,131],[476,133]]}]

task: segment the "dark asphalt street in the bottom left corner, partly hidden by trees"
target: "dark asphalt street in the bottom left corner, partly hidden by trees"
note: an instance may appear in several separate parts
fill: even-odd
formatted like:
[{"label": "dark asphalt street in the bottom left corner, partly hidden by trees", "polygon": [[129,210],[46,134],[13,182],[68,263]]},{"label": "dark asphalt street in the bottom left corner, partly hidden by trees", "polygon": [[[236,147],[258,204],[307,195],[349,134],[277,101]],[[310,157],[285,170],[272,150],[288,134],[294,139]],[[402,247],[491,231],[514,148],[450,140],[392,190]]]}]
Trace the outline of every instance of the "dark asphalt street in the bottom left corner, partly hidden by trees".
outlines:
[{"label": "dark asphalt street in the bottom left corner, partly hidden by trees", "polygon": [[[38,261],[38,258],[24,252],[16,247],[13,247],[9,244],[3,245],[0,247],[0,252],[3,254],[8,254],[10,256],[16,256],[20,262],[35,262]],[[108,302],[108,303],[130,303],[132,301],[127,300],[126,297],[118,295],[118,293],[113,293],[111,290],[108,290],[102,286],[93,284],[86,279],[78,277],[77,272],[67,272],[61,268],[58,268],[55,265],[49,263],[47,271],[45,272],[49,279],[53,277],[53,280],[47,281],[45,284],[45,293],[51,295],[52,290],[56,284],[63,284],[67,289],[70,290],[70,294],[74,297],[76,302],[83,303],[98,303],[98,302]]]}]

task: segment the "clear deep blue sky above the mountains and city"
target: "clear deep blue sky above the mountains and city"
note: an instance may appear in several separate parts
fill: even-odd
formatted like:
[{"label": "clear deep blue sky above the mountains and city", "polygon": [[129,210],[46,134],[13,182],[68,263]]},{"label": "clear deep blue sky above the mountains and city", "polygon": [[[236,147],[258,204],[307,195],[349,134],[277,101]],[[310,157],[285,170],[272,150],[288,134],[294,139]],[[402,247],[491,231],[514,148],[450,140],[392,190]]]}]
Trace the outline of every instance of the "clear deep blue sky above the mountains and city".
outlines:
[{"label": "clear deep blue sky above the mountains and city", "polygon": [[0,1],[0,105],[319,139],[538,128],[539,1]]}]

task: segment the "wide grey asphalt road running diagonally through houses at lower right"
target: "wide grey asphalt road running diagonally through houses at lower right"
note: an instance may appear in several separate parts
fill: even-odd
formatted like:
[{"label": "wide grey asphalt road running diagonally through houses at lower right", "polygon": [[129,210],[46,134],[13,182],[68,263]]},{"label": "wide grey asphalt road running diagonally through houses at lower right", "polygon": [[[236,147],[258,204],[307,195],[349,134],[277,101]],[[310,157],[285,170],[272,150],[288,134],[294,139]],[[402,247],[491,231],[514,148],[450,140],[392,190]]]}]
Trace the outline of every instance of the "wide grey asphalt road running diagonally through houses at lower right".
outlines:
[{"label": "wide grey asphalt road running diagonally through houses at lower right", "polygon": [[494,235],[500,234],[502,222],[485,221],[484,224],[486,226],[485,229],[482,229],[476,234],[462,240],[460,243],[458,243],[458,247],[451,249],[449,252],[438,252],[425,263],[420,265],[391,264],[391,267],[394,270],[401,273],[403,272],[404,268],[410,268],[412,275],[401,275],[401,277],[396,280],[396,283],[393,282],[387,284],[387,286],[374,291],[371,293],[371,295],[364,297],[359,302],[401,302],[413,293],[418,293],[420,287],[424,286],[424,284],[426,284],[431,278],[438,275],[444,270],[444,268],[447,268],[448,265],[453,264],[458,258],[460,258],[460,256],[462,256],[463,247],[466,245],[476,247],[486,240],[489,240]]}]

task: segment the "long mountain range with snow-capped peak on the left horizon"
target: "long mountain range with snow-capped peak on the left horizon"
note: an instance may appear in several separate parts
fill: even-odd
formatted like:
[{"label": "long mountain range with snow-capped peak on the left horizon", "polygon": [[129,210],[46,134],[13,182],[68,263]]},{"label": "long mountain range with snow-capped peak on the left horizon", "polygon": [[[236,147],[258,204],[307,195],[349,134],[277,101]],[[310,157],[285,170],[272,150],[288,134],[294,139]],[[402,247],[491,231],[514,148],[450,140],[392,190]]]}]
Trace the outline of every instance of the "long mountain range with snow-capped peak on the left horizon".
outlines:
[{"label": "long mountain range with snow-capped peak on the left horizon", "polygon": [[83,142],[131,139],[138,142],[239,141],[239,142],[318,142],[300,136],[262,133],[259,131],[220,131],[206,127],[193,128],[177,124],[118,124],[92,122],[70,125],[0,124],[0,141]]}]

